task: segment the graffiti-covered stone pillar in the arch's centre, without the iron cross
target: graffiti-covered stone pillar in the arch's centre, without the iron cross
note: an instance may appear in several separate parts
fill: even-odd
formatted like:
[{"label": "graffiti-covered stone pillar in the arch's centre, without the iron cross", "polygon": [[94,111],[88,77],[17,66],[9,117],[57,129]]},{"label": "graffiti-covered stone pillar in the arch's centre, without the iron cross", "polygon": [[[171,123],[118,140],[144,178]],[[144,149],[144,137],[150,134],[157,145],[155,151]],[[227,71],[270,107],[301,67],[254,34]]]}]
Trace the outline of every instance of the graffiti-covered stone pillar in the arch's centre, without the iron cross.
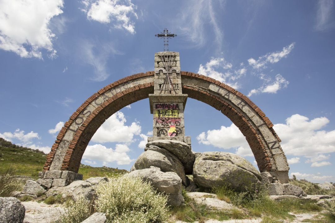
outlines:
[{"label": "graffiti-covered stone pillar in the arch's centre, without the iron cross", "polygon": [[191,136],[185,136],[186,100],[187,94],[182,93],[179,52],[155,53],[154,94],[149,94],[153,136],[148,137],[148,142],[169,139],[191,145]]}]

